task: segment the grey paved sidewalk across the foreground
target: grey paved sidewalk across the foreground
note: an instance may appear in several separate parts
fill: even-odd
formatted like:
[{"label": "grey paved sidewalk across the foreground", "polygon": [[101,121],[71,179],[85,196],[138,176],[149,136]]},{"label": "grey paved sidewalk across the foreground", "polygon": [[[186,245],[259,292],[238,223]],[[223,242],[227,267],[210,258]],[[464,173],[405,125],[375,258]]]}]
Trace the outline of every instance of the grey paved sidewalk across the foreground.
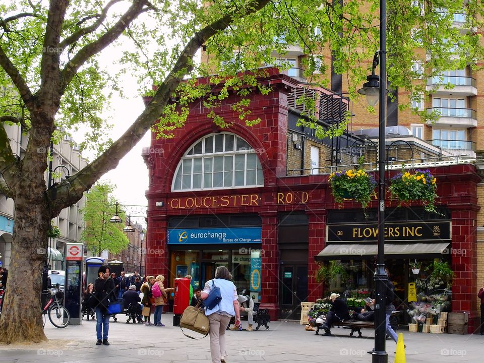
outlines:
[{"label": "grey paved sidewalk across the foreground", "polygon": [[[193,362],[210,363],[209,338],[192,340],[179,327],[172,326],[172,315],[163,314],[166,326],[126,324],[119,319],[109,324],[110,346],[96,346],[95,321],[83,321],[57,329],[47,321],[45,333],[50,341],[43,345],[0,346],[0,363],[124,363]],[[243,322],[247,327],[247,322]],[[367,350],[373,347],[373,331],[362,329],[365,338],[349,337],[348,329],[333,328],[334,337],[305,331],[297,322],[272,322],[270,330],[227,331],[227,363],[238,362],[371,362]],[[480,362],[484,337],[479,335],[423,334],[403,331],[408,363]],[[394,361],[395,343],[387,340],[389,362]]]}]

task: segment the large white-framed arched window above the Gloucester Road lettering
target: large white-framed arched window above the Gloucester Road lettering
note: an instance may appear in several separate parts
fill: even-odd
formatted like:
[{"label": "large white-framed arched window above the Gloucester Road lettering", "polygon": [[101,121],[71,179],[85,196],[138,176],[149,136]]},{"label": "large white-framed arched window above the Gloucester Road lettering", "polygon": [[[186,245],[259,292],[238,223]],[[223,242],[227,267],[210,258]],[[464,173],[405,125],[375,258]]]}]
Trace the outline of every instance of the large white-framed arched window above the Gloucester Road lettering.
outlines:
[{"label": "large white-framed arched window above the Gloucester Road lettering", "polygon": [[181,158],[172,191],[263,187],[262,166],[256,150],[229,133],[198,140]]}]

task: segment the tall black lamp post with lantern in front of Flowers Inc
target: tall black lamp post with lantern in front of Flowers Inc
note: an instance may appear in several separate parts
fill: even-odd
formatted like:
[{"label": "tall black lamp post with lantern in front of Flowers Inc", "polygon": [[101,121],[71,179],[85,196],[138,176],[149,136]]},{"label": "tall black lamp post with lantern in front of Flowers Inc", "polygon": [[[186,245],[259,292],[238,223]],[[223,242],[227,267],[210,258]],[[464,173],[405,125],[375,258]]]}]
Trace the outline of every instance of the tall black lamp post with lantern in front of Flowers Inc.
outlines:
[{"label": "tall black lamp post with lantern in front of Flowers Inc", "polygon": [[[387,41],[387,3],[380,0],[380,50],[373,58],[372,75],[367,77],[363,88],[359,93],[367,96],[368,103],[372,106],[379,105],[379,128],[378,128],[378,257],[374,279],[376,286],[375,296],[375,349],[372,351],[373,363],[387,363],[388,354],[385,351],[385,305],[386,283],[388,275],[385,272],[385,120],[386,120],[386,41]],[[380,62],[380,77],[375,75],[375,68]],[[378,98],[376,97],[378,88]]]}]

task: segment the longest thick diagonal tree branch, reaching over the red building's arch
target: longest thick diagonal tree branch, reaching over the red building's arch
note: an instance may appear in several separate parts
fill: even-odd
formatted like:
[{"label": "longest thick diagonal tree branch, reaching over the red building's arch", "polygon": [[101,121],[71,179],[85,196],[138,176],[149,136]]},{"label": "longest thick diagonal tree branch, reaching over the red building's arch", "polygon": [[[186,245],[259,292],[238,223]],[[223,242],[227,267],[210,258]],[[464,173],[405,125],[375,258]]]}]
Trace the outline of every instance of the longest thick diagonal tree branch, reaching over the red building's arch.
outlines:
[{"label": "longest thick diagonal tree branch, reaching over the red building's arch", "polygon": [[[150,103],[137,117],[133,125],[116,140],[96,160],[87,165],[69,178],[69,183],[64,181],[57,187],[57,199],[53,202],[52,213],[60,212],[63,208],[77,202],[82,193],[89,190],[92,185],[107,171],[114,169],[122,159],[143,137],[151,126],[154,125],[161,115],[164,106],[176,90],[183,76],[192,69],[192,60],[198,49],[217,32],[226,29],[235,17],[247,16],[262,9],[270,0],[254,0],[245,9],[231,10],[219,20],[207,25],[187,43],[185,49],[179,55],[176,64],[159,86]],[[180,71],[184,70],[184,74]]]}]

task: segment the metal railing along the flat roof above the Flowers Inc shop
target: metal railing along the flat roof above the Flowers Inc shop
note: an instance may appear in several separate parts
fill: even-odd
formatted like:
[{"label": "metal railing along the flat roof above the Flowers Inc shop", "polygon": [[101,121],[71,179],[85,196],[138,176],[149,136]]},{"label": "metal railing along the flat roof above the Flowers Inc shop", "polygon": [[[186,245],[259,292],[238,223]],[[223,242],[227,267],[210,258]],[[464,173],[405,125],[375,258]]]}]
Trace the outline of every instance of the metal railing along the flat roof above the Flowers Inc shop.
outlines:
[{"label": "metal railing along the flat roof above the Flowers Inc shop", "polygon": [[[401,169],[402,165],[403,168],[424,168],[424,167],[437,167],[437,166],[445,166],[445,165],[453,165],[453,164],[462,164],[462,163],[469,163],[474,161],[475,159],[469,159],[471,155],[452,155],[452,156],[431,156],[426,158],[418,158],[420,162],[416,162],[412,159],[403,159],[403,160],[387,160],[386,169],[394,170],[394,169]],[[378,170],[378,164],[375,165],[375,162],[363,163],[358,164],[358,167],[361,166],[367,171],[376,171]],[[346,165],[328,165],[328,166],[321,166],[318,168],[305,168],[305,169],[292,169],[287,170],[287,176],[310,176],[310,175],[327,175],[331,174],[337,170],[348,170],[354,169],[355,164],[346,164]],[[312,174],[314,170],[318,170],[317,173]],[[302,175],[300,172],[303,172]],[[308,171],[308,173],[304,173]],[[291,173],[291,175],[289,175]],[[297,173],[297,174],[296,174]]]}]

